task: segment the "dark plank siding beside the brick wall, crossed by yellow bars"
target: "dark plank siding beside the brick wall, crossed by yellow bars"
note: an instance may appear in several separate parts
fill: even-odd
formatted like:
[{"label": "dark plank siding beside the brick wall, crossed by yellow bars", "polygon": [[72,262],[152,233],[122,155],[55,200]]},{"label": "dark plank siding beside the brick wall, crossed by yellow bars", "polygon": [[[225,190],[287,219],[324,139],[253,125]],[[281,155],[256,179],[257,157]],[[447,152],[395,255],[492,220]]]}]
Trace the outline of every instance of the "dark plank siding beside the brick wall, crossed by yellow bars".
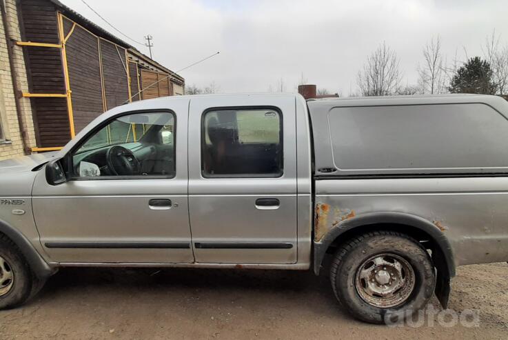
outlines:
[{"label": "dark plank siding beside the brick wall, crossed by yellow bars", "polygon": [[[57,10],[50,1],[23,0],[19,6],[24,41],[59,43]],[[61,50],[23,48],[31,93],[65,93]],[[65,98],[32,98],[37,146],[63,146],[70,139]]]}]

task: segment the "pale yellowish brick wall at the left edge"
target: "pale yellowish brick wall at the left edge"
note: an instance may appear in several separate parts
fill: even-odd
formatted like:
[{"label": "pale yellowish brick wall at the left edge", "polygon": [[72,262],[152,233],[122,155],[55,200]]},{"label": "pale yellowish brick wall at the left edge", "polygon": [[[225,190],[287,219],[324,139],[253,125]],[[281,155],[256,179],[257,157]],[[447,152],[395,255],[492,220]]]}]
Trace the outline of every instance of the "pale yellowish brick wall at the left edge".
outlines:
[{"label": "pale yellowish brick wall at the left edge", "polygon": [[[21,41],[16,0],[6,0],[5,3],[7,21],[11,34],[10,39]],[[14,46],[12,52],[19,90],[28,92],[23,48],[21,48],[21,46]],[[26,131],[26,143],[28,148],[32,148],[36,146],[36,141],[30,99],[21,98],[20,102],[21,123]],[[23,155],[23,141],[21,139],[21,129],[17,117],[16,102],[14,100],[14,88],[12,86],[12,74],[10,72],[8,41],[6,41],[6,32],[2,20],[0,20],[0,119],[3,138],[6,139],[6,141],[0,141],[0,159]]]}]

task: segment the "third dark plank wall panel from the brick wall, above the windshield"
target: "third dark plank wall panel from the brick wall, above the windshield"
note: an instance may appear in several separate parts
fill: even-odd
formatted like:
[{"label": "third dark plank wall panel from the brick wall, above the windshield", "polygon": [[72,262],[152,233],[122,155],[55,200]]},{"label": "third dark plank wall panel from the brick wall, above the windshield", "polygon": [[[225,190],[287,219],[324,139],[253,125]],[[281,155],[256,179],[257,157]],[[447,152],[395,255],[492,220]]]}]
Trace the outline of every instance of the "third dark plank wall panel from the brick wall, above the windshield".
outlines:
[{"label": "third dark plank wall panel from the brick wall, above the windshield", "polygon": [[125,49],[101,39],[101,56],[106,107],[109,110],[129,100],[129,81],[124,68]]}]

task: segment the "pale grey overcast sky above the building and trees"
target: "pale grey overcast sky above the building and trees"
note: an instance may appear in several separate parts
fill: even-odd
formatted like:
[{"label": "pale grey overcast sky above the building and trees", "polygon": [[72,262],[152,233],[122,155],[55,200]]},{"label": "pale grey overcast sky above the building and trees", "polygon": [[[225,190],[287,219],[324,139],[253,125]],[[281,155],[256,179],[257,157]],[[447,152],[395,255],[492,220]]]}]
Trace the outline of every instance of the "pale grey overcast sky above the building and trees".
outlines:
[{"label": "pale grey overcast sky above the building and trees", "polygon": [[[61,0],[115,32],[81,0]],[[400,59],[404,82],[415,84],[422,48],[440,35],[449,62],[482,55],[496,30],[508,43],[507,0],[85,0],[116,28],[137,41],[152,34],[154,59],[181,72],[188,85],[214,81],[220,92],[267,92],[280,79],[292,92],[307,83],[347,96],[365,58],[386,41]]]}]

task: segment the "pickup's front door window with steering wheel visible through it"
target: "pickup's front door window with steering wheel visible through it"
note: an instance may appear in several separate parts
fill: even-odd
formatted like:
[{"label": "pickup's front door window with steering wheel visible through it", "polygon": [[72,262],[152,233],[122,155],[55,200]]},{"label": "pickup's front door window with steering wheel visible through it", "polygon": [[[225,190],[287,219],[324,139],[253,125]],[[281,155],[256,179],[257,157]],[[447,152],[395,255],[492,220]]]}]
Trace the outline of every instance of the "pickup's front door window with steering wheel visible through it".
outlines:
[{"label": "pickup's front door window with steering wheel visible through it", "polygon": [[75,177],[175,175],[175,121],[170,112],[116,118],[72,155]]}]

